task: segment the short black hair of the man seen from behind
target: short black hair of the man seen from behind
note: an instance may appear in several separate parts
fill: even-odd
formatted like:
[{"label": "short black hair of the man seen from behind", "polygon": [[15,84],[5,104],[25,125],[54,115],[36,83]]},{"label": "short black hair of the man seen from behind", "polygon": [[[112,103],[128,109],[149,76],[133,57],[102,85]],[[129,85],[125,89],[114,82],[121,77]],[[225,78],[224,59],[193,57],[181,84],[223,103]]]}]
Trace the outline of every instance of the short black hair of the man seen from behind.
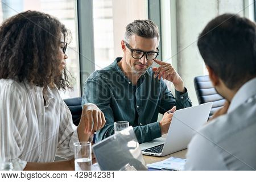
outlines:
[{"label": "short black hair of the man seen from behind", "polygon": [[205,64],[229,89],[256,76],[256,27],[249,19],[217,16],[201,32],[197,46]]}]

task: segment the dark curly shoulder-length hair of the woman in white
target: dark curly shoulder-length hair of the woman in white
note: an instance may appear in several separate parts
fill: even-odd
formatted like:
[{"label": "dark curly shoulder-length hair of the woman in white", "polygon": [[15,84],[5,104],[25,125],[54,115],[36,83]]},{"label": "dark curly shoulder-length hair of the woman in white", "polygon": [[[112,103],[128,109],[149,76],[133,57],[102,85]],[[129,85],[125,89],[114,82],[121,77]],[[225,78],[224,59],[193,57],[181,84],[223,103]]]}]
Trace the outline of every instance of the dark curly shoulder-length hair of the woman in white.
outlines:
[{"label": "dark curly shoulder-length hair of the woman in white", "polygon": [[60,70],[61,33],[67,42],[70,31],[56,18],[39,11],[25,11],[5,20],[0,26],[0,79],[72,88],[66,68]]}]

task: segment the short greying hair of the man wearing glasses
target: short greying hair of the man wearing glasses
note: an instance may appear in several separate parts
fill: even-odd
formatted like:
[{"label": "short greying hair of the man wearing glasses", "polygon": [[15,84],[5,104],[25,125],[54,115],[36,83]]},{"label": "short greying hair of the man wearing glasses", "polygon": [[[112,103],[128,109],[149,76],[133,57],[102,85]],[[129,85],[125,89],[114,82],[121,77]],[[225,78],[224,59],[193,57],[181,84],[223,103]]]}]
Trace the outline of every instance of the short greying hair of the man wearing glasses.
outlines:
[{"label": "short greying hair of the man wearing glasses", "polygon": [[131,35],[138,35],[143,38],[157,38],[159,42],[158,26],[149,19],[134,20],[134,22],[127,24],[125,42],[130,42]]}]

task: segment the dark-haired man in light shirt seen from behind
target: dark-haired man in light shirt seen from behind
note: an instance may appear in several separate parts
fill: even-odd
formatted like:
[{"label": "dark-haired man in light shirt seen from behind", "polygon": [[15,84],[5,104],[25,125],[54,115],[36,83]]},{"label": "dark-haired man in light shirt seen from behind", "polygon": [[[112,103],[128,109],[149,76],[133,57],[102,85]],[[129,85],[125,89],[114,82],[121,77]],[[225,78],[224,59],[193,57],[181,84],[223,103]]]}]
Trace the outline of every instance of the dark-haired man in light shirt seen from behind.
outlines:
[{"label": "dark-haired man in light shirt seen from behind", "polygon": [[193,137],[185,169],[255,170],[255,23],[233,14],[218,16],[201,32],[197,45],[226,104]]}]

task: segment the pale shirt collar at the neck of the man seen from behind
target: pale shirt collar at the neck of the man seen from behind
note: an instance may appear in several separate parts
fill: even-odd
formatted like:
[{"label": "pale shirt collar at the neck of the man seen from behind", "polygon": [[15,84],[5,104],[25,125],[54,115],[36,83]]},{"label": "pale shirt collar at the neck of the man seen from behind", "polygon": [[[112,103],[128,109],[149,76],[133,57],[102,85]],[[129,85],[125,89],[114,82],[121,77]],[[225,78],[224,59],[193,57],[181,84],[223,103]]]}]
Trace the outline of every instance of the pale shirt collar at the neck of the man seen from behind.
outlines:
[{"label": "pale shirt collar at the neck of the man seen from behind", "polygon": [[234,95],[228,113],[236,109],[238,106],[246,102],[250,97],[253,97],[256,94],[256,78],[253,78],[247,81]]}]

